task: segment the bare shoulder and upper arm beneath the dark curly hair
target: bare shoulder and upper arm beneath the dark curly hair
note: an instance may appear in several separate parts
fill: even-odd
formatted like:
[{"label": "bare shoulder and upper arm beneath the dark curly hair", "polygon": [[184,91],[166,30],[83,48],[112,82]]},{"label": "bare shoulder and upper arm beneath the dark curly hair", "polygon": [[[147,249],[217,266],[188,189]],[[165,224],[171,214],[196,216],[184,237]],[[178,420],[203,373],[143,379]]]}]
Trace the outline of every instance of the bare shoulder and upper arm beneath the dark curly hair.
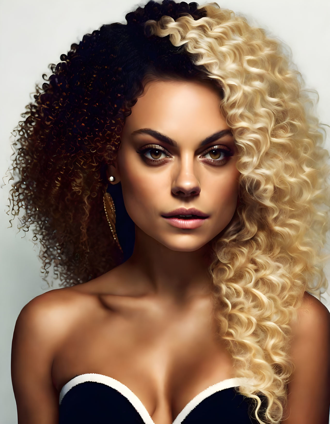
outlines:
[{"label": "bare shoulder and upper arm beneath the dark curly hair", "polygon": [[51,378],[54,354],[76,322],[81,306],[86,310],[91,304],[87,296],[70,289],[36,296],[17,318],[11,346],[11,380],[20,423],[58,422],[59,399]]}]

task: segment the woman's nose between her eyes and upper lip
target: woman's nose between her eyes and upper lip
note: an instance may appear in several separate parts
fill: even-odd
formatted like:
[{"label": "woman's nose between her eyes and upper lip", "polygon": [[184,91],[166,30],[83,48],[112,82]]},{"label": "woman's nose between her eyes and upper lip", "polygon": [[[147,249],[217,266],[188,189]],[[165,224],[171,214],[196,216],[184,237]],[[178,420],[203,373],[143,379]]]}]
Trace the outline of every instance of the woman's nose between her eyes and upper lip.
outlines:
[{"label": "woman's nose between her eyes and upper lip", "polygon": [[193,158],[190,158],[189,155],[182,156],[178,173],[172,184],[173,195],[188,197],[200,193],[201,186],[193,168]]}]

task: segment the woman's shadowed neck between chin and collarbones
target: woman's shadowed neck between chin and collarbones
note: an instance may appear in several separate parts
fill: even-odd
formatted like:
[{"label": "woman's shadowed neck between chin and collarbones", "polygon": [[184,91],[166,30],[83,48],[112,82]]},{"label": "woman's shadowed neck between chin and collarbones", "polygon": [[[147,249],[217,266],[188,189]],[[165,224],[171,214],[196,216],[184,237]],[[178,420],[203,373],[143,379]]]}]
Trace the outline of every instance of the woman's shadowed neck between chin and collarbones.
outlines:
[{"label": "woman's shadowed neck between chin and collarbones", "polygon": [[209,295],[209,243],[196,251],[174,251],[138,227],[135,234],[134,251],[125,264],[141,292],[180,302]]}]

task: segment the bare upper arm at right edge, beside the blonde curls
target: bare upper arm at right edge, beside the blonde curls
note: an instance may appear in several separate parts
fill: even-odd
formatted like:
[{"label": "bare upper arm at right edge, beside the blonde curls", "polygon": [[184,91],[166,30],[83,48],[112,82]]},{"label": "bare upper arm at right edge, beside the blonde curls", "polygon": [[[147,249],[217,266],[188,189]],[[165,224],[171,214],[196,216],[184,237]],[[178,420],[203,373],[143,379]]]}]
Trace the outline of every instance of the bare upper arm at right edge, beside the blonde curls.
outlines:
[{"label": "bare upper arm at right edge, beside the blonde curls", "polygon": [[330,312],[305,292],[293,327],[286,424],[324,424],[330,407]]}]

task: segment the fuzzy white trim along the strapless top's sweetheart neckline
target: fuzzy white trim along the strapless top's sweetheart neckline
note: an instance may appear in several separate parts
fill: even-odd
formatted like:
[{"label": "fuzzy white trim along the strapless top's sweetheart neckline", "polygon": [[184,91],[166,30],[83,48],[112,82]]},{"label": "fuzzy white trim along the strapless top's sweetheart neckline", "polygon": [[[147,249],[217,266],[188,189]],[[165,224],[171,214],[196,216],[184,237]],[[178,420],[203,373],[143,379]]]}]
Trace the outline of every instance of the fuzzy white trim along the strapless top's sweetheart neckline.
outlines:
[{"label": "fuzzy white trim along the strapless top's sweetheart neckline", "polygon": [[[147,409],[143,405],[143,403],[140,401],[140,399],[134,394],[131,389],[129,389],[126,385],[121,383],[120,381],[103,375],[103,374],[96,374],[96,373],[87,373],[87,374],[81,374],[76,377],[73,377],[69,382],[67,382],[61,389],[61,392],[59,394],[59,404],[61,404],[63,397],[66,395],[66,393],[73,388],[74,386],[84,383],[87,381],[97,382],[101,384],[105,384],[109,387],[114,388],[119,393],[121,393],[123,396],[126,397],[126,399],[129,400],[129,402],[134,406],[134,408],[137,410],[137,413],[140,415],[140,417],[143,419],[143,422],[145,424],[155,424],[152,420],[151,416],[149,415]],[[229,378],[226,380],[223,380],[221,382],[218,382],[216,384],[213,384],[203,390],[201,393],[196,395],[193,399],[191,399],[190,402],[187,403],[187,405],[183,408],[183,410],[179,413],[179,415],[175,418],[172,424],[181,424],[182,421],[189,415],[189,413],[198,405],[201,403],[202,400],[206,399],[207,397],[211,396],[213,393],[228,389],[231,387],[240,386],[244,382],[249,382],[250,380],[246,377],[234,377]]]}]

